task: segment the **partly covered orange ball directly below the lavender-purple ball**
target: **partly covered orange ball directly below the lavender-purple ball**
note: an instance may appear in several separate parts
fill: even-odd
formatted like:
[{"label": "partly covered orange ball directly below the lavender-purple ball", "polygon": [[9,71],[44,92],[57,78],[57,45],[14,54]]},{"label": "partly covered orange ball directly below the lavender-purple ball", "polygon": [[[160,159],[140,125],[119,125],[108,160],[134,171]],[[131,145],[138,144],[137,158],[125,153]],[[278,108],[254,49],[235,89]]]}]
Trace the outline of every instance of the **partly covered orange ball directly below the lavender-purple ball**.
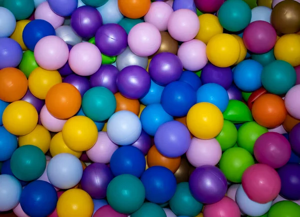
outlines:
[{"label": "partly covered orange ball directly below the lavender-purple ball", "polygon": [[173,173],[177,171],[180,166],[181,158],[178,157],[166,157],[161,155],[155,145],[153,145],[147,153],[147,164],[151,166],[164,166],[171,170]]}]

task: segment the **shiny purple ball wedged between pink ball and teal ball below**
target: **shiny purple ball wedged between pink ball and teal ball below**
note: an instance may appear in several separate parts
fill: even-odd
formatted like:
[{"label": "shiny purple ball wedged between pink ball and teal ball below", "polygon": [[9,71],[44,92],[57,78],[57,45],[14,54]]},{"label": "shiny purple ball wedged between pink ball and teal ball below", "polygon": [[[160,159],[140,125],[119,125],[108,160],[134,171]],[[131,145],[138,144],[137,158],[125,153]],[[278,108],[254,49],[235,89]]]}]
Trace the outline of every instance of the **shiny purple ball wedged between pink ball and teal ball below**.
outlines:
[{"label": "shiny purple ball wedged between pink ball and teal ball below", "polygon": [[90,75],[90,85],[91,87],[104,86],[114,94],[117,92],[116,76],[118,73],[119,70],[114,65],[102,64],[95,73]]}]

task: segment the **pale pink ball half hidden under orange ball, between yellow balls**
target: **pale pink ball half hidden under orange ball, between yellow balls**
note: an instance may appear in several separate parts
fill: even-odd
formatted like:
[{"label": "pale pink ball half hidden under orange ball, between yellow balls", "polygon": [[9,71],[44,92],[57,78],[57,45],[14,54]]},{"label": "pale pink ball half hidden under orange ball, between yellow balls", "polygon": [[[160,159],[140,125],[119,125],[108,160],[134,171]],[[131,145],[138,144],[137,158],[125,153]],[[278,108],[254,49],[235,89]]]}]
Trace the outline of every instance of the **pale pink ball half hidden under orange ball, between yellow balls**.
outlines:
[{"label": "pale pink ball half hidden under orange ball, between yellow balls", "polygon": [[66,122],[64,119],[57,119],[56,117],[52,116],[46,105],[42,106],[39,117],[41,124],[51,132],[60,132],[64,123]]}]

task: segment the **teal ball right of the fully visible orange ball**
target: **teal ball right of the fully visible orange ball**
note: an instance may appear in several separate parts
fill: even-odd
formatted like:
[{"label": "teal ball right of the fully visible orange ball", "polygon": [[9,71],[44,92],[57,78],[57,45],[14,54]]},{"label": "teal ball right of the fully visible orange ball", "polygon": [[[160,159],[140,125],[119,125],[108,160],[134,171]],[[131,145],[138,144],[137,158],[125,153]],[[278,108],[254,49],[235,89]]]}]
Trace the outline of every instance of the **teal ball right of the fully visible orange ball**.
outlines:
[{"label": "teal ball right of the fully visible orange ball", "polygon": [[95,86],[84,93],[81,106],[83,113],[93,121],[104,121],[114,113],[116,100],[109,89]]}]

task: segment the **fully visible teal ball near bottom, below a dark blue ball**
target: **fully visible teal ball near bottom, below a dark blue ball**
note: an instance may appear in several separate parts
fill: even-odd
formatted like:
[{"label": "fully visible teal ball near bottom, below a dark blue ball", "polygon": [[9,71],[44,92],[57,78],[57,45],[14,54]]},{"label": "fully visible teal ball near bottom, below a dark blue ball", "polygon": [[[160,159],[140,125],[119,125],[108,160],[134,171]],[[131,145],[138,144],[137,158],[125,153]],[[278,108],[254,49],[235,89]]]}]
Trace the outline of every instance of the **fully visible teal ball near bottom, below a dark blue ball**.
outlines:
[{"label": "fully visible teal ball near bottom, below a dark blue ball", "polygon": [[118,175],[109,182],[106,198],[114,210],[126,214],[132,213],[143,204],[145,188],[134,175]]}]

